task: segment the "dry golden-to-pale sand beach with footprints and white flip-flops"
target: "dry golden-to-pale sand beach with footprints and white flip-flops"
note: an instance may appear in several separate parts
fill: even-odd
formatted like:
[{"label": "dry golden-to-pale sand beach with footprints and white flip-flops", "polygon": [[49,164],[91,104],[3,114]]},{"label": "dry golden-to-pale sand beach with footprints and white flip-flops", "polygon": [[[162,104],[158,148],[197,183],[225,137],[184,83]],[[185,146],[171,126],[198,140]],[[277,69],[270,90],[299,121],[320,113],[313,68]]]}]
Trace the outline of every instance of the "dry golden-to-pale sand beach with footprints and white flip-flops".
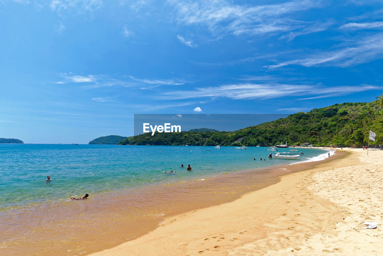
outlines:
[{"label": "dry golden-to-pale sand beach with footprints and white flip-flops", "polygon": [[383,255],[383,150],[343,149],[241,198],[92,255]]}]

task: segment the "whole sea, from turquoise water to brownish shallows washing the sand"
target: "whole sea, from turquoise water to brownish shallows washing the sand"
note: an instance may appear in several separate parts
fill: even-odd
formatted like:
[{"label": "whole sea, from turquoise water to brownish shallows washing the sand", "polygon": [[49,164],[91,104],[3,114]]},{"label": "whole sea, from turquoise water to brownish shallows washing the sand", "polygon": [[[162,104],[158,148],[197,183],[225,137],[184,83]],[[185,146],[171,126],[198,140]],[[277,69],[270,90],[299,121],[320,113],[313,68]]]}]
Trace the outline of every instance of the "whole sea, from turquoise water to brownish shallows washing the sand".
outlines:
[{"label": "whole sea, from turquoise water to brownish shallows washing the sand", "polygon": [[[334,154],[299,148],[299,160],[269,159],[275,151],[267,149],[0,144],[0,254],[101,251],[144,235],[165,216],[235,200],[276,183],[292,164]],[[86,200],[70,199],[85,193]]]}]

